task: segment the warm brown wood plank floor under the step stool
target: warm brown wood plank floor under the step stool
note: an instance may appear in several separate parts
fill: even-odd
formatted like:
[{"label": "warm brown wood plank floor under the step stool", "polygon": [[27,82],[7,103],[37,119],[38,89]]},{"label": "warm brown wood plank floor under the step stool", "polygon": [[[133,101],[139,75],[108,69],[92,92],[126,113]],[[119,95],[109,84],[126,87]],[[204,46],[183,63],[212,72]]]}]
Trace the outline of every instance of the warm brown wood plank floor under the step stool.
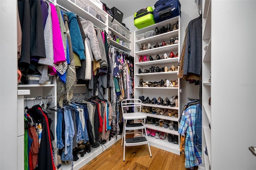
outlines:
[{"label": "warm brown wood plank floor under the step stool", "polygon": [[126,147],[123,162],[123,147],[119,140],[80,170],[190,170],[185,168],[184,154],[176,155],[154,146],[150,149],[151,158],[148,145]]}]

